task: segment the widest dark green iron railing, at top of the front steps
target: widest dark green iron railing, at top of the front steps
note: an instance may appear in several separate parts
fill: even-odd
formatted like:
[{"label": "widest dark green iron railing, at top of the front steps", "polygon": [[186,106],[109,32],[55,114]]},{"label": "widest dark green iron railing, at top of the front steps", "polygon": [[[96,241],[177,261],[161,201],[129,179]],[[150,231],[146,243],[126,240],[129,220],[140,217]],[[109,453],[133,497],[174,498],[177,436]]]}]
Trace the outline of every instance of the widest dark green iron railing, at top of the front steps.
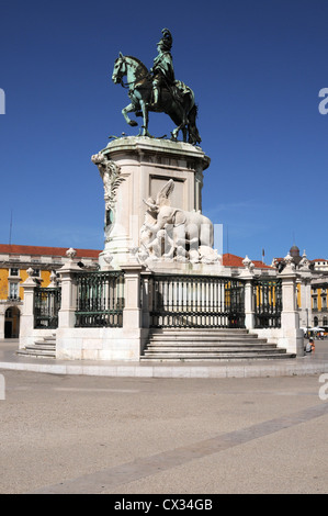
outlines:
[{"label": "widest dark green iron railing, at top of the front steps", "polygon": [[155,274],[149,293],[151,327],[245,327],[245,282],[239,279]]}]

